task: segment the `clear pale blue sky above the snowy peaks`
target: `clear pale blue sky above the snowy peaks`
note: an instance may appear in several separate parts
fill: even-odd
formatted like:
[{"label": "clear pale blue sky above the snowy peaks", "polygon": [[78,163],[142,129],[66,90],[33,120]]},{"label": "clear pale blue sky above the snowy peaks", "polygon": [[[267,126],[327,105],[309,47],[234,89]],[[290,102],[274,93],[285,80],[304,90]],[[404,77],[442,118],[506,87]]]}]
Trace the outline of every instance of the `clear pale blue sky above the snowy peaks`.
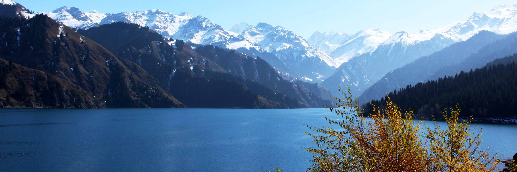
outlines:
[{"label": "clear pale blue sky above the snowy peaks", "polygon": [[204,0],[13,0],[36,12],[52,11],[62,6],[84,11],[118,13],[161,9],[174,14],[181,11],[202,15],[230,29],[246,22],[265,22],[293,30],[308,38],[315,31],[356,33],[379,28],[391,33],[433,29],[463,20],[473,12],[490,10],[497,5],[514,4],[515,0],[464,1],[204,1]]}]

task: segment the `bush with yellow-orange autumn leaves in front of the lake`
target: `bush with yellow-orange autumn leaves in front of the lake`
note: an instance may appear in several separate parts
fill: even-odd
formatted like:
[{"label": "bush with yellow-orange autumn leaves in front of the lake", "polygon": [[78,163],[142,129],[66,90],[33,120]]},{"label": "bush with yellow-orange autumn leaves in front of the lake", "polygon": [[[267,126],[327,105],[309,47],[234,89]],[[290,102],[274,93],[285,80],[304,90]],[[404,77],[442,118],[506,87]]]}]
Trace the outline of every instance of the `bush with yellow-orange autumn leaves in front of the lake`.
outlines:
[{"label": "bush with yellow-orange autumn leaves in front of the lake", "polygon": [[[443,112],[447,128],[425,126],[389,98],[383,108],[363,114],[350,89],[345,99],[329,107],[339,119],[325,119],[333,127],[307,125],[316,147],[308,171],[494,171],[498,163],[488,149],[480,149],[481,132],[473,134],[470,121],[459,120],[456,106]],[[347,91],[346,93],[344,91]]]}]

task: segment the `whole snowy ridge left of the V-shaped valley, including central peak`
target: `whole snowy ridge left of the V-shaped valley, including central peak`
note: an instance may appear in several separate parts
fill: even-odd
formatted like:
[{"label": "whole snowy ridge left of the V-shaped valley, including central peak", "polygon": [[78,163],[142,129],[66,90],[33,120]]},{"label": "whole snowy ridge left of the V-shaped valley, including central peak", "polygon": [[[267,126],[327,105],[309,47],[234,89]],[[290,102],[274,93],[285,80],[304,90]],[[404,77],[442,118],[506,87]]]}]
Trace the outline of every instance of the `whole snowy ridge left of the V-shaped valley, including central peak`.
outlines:
[{"label": "whole snowy ridge left of the V-shaped valley, including central peak", "polygon": [[61,7],[53,12],[43,13],[70,27],[87,29],[113,22],[128,22],[148,26],[166,38],[196,44],[212,44],[228,49],[246,48],[270,52],[292,69],[292,75],[308,81],[321,82],[340,65],[291,30],[266,23],[256,26],[239,23],[230,31],[226,31],[220,25],[201,16],[192,17],[185,12],[175,15],[156,9],[109,14]]}]

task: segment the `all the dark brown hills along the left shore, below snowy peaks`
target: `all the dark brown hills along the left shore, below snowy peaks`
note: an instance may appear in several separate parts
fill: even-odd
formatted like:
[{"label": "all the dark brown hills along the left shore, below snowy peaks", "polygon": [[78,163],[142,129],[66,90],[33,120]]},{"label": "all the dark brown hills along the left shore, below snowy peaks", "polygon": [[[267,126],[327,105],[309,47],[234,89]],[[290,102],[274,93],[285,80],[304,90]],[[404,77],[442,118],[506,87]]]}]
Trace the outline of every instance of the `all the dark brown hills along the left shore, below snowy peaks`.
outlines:
[{"label": "all the dark brown hills along the left shore, below snowy peaks", "polygon": [[[0,16],[5,44],[0,58],[8,61],[0,73],[5,79],[0,103],[6,107],[305,108],[331,103],[327,89],[286,81],[260,57],[172,40],[127,22],[72,29],[22,7],[0,4],[14,11]],[[31,70],[32,79],[18,72]]]}]

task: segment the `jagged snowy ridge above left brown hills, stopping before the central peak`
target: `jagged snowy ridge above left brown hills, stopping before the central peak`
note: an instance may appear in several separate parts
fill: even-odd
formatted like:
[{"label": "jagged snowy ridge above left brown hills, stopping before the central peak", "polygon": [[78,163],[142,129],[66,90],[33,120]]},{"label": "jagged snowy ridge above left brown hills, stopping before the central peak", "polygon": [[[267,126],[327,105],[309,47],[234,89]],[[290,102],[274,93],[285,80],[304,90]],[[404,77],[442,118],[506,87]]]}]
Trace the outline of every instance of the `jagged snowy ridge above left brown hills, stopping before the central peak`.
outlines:
[{"label": "jagged snowy ridge above left brown hills, stopping before the central peak", "polygon": [[75,7],[61,7],[52,12],[42,13],[49,15],[56,21],[63,22],[69,27],[88,29],[114,22],[127,22],[147,26],[166,38],[180,39],[197,44],[226,46],[236,37],[207,18],[192,17],[186,12],[175,15],[163,10],[151,9],[110,14],[98,11],[81,11]]}]

